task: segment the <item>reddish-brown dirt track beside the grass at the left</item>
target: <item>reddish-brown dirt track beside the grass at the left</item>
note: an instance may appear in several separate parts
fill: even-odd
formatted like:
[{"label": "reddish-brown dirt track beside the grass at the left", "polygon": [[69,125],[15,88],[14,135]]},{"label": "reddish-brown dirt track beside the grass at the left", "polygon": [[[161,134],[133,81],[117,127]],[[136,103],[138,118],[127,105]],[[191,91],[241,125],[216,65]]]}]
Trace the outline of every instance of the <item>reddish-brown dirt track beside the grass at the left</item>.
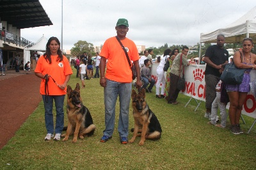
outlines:
[{"label": "reddish-brown dirt track beside the grass at the left", "polygon": [[35,111],[42,97],[35,74],[13,74],[0,80],[0,149]]}]

